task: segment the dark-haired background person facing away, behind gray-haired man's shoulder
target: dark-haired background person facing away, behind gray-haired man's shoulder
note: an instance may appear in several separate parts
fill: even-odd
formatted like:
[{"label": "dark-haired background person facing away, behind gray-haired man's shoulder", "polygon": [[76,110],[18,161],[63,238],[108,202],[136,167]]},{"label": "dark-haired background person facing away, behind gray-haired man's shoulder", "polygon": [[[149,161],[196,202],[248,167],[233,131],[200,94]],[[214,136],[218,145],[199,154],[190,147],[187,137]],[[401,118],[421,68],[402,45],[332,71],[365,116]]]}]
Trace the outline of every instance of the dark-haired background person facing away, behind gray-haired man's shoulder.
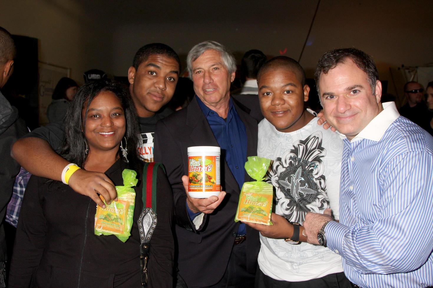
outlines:
[{"label": "dark-haired background person facing away, behind gray-haired man's shoulder", "polygon": [[266,56],[260,50],[253,49],[244,54],[240,72],[245,82],[239,94],[257,94],[257,73],[265,62]]}]

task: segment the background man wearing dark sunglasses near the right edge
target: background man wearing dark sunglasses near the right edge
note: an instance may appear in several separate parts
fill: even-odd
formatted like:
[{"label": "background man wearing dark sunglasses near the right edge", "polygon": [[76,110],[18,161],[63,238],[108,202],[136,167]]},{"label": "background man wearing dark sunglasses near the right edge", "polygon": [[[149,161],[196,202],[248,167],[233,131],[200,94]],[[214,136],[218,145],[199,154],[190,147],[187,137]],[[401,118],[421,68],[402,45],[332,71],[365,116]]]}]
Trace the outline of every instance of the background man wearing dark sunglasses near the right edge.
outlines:
[{"label": "background man wearing dark sunglasses near the right edge", "polygon": [[423,92],[424,89],[418,82],[409,81],[404,84],[404,96],[407,98],[407,103],[400,108],[399,112],[401,116],[426,129],[430,122],[427,120],[427,106],[423,101]]}]

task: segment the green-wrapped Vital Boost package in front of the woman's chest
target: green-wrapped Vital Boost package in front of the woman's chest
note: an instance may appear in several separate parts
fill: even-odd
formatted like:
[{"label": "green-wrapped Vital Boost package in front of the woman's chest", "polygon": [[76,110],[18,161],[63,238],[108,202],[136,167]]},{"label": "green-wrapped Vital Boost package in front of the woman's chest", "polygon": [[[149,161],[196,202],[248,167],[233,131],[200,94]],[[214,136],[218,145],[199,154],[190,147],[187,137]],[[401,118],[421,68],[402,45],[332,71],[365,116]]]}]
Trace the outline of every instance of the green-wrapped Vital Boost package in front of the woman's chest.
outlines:
[{"label": "green-wrapped Vital Boost package in front of the woman's chest", "polygon": [[117,201],[106,208],[97,206],[95,214],[95,235],[116,235],[120,241],[125,242],[131,235],[132,220],[134,217],[135,196],[133,186],[137,185],[137,172],[125,169],[122,172],[123,186],[116,186]]}]

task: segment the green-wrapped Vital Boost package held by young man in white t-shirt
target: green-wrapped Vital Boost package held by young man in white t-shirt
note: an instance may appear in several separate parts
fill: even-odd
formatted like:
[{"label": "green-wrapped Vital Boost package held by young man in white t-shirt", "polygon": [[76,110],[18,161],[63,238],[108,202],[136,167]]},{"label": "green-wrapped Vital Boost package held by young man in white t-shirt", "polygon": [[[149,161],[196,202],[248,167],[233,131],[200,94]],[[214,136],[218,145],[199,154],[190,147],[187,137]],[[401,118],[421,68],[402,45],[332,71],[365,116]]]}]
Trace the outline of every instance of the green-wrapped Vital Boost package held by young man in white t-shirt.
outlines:
[{"label": "green-wrapped Vital Boost package held by young man in white t-shirt", "polygon": [[262,181],[266,178],[266,171],[268,171],[270,163],[271,160],[267,158],[248,157],[245,170],[251,178],[257,181],[245,182],[242,185],[235,222],[244,221],[272,225],[271,212],[274,190],[271,184]]}]

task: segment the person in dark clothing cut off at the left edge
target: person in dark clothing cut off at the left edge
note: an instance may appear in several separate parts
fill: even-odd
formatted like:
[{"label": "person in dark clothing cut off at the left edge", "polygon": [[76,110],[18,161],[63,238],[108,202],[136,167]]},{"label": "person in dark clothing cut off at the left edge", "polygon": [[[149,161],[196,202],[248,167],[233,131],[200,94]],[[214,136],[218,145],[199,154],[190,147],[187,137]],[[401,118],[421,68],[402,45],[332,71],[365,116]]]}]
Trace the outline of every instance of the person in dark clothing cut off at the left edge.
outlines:
[{"label": "person in dark clothing cut off at the left edge", "polygon": [[[12,36],[0,27],[0,89],[13,73],[16,47]],[[6,287],[6,235],[4,218],[6,205],[13,191],[13,183],[19,172],[19,164],[11,157],[13,143],[27,133],[25,122],[18,117],[18,110],[0,92],[0,288]]]}]

